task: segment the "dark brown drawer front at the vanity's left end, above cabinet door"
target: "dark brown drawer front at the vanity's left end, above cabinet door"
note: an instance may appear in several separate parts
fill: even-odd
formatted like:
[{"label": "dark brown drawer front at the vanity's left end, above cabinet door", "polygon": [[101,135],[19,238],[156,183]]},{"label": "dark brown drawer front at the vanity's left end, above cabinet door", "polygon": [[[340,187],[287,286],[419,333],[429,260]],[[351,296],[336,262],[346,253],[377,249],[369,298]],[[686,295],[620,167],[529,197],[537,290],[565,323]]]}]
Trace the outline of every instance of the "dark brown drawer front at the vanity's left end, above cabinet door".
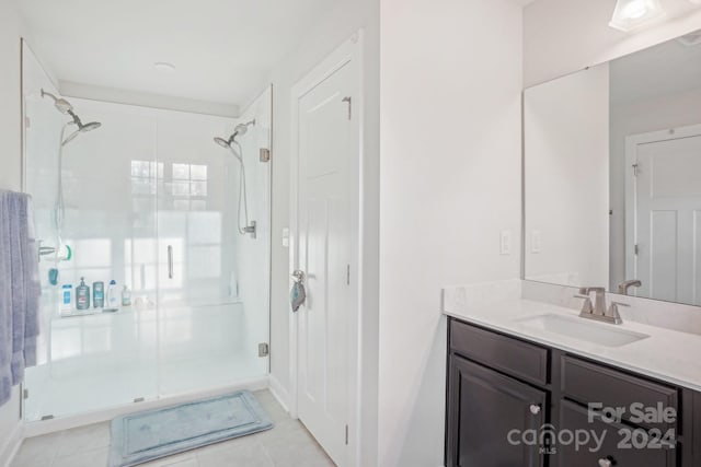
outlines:
[{"label": "dark brown drawer front at the vanity's left end, above cabinet door", "polygon": [[548,384],[549,350],[452,319],[450,349],[537,384]]}]

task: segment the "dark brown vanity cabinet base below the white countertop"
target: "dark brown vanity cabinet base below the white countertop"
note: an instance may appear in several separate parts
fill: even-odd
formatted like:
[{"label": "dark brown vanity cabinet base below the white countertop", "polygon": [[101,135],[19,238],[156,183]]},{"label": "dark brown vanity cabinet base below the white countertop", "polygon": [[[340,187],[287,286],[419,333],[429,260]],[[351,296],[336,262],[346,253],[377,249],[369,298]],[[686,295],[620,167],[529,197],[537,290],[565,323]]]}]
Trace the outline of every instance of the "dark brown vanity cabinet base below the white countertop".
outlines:
[{"label": "dark brown vanity cabinet base below the white countertop", "polygon": [[447,467],[701,466],[701,394],[456,318],[448,332]]}]

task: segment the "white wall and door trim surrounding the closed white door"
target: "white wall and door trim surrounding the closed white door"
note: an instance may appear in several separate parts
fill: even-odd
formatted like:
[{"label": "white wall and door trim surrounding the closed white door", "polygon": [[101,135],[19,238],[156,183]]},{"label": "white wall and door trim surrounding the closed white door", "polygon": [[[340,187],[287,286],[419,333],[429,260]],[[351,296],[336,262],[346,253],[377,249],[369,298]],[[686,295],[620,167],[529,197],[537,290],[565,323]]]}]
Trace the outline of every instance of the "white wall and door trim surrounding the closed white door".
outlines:
[{"label": "white wall and door trim surrounding the closed white door", "polygon": [[350,428],[358,464],[377,465],[377,352],[379,250],[379,0],[341,2],[309,31],[304,40],[272,73],[273,83],[273,247],[271,302],[271,381],[273,390],[289,404],[289,250],[283,229],[290,217],[291,87],[315,65],[363,28],[361,167],[361,399],[358,427]]}]

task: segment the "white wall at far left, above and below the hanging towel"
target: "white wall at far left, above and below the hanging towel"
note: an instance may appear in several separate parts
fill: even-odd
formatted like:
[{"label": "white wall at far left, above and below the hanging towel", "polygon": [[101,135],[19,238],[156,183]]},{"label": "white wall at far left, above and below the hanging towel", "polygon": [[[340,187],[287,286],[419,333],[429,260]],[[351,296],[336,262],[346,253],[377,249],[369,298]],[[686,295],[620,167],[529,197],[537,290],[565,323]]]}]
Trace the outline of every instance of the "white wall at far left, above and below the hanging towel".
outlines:
[{"label": "white wall at far left, above and below the hanging towel", "polygon": [[[0,189],[22,188],[21,71],[22,22],[9,0],[0,0]],[[0,407],[0,465],[9,460],[18,441],[20,388]]]}]

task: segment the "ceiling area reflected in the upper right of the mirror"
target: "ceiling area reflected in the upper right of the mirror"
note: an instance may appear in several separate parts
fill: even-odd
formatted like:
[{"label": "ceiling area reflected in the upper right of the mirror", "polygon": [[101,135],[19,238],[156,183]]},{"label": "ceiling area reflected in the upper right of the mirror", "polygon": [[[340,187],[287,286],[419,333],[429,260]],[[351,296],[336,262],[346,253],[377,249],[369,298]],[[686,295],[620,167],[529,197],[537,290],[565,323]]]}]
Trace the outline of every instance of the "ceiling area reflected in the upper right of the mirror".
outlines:
[{"label": "ceiling area reflected in the upper right of the mirror", "polygon": [[701,87],[701,44],[676,39],[611,61],[611,102],[627,103]]}]

